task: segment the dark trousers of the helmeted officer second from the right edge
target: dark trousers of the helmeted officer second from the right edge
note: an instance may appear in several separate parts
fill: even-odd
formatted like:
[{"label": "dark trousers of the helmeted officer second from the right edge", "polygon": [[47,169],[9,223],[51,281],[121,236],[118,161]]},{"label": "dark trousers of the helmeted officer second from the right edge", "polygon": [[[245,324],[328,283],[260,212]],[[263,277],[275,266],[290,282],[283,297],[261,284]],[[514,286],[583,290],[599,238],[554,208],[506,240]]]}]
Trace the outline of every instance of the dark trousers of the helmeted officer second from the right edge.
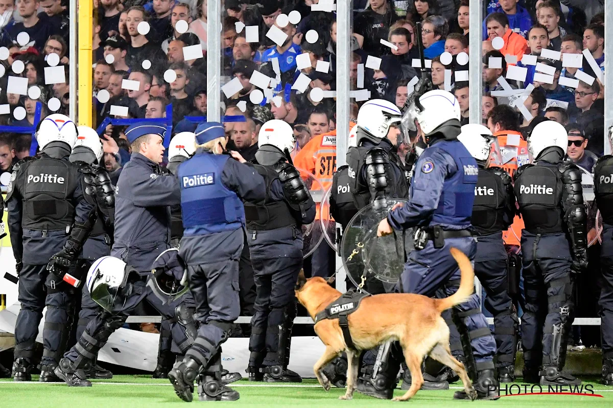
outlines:
[{"label": "dark trousers of the helmeted officer second from the right edge", "polygon": [[[522,257],[525,292],[522,346],[525,368],[536,370],[541,364],[551,365],[554,325],[564,323],[563,332],[569,333],[574,320],[574,278],[568,239],[563,233],[536,235],[524,229]],[[564,366],[568,334],[565,337],[560,345],[560,369]]]}]

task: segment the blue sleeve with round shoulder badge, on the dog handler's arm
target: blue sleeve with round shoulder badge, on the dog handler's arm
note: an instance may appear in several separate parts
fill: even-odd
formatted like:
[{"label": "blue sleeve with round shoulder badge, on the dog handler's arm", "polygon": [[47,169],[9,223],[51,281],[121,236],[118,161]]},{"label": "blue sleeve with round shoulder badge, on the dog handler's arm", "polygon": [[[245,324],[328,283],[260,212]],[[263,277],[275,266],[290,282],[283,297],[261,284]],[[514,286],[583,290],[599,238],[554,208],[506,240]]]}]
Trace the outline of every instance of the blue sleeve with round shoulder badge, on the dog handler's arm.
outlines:
[{"label": "blue sleeve with round shoulder badge, on the dog handler's arm", "polygon": [[[430,166],[432,170],[428,171]],[[424,152],[416,163],[411,200],[404,207],[390,211],[387,215],[390,226],[394,229],[407,229],[427,225],[438,207],[445,177],[455,171],[455,162],[442,150]]]}]

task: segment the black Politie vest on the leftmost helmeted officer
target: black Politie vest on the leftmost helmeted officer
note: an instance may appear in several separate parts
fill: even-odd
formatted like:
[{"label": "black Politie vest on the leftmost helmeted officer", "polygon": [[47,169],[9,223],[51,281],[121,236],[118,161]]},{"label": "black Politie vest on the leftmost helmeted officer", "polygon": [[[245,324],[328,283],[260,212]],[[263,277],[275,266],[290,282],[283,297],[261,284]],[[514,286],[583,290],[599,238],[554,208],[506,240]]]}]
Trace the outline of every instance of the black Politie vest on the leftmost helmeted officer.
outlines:
[{"label": "black Politie vest on the leftmost helmeted officer", "polygon": [[39,158],[26,169],[21,226],[39,231],[69,231],[78,173],[67,160]]}]

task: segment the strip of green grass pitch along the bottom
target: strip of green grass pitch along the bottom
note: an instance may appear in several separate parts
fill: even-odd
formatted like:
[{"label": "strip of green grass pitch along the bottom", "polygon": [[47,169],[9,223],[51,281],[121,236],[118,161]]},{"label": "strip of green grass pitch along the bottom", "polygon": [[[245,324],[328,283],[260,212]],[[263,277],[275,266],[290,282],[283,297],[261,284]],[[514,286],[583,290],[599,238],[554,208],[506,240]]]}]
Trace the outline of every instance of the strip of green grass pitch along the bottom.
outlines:
[{"label": "strip of green grass pitch along the bottom", "polygon": [[[34,377],[37,380],[37,376]],[[596,379],[592,379],[596,380]],[[606,387],[597,382],[592,384],[595,396],[574,395],[527,395],[503,397],[498,401],[456,401],[452,399],[454,391],[461,385],[452,384],[450,390],[419,391],[408,402],[392,402],[370,398],[359,393],[354,394],[352,401],[339,401],[338,396],[345,390],[332,388],[329,392],[319,387],[316,380],[307,379],[302,384],[262,384],[238,381],[230,386],[240,392],[240,399],[235,402],[214,402],[215,404],[242,407],[375,407],[390,404],[410,404],[411,406],[428,407],[466,407],[498,406],[498,407],[577,407],[598,408],[613,407],[613,387]],[[394,395],[402,395],[404,391],[398,387]],[[514,391],[517,393],[517,391]],[[192,404],[211,404],[197,401]],[[38,382],[15,383],[9,379],[0,380],[0,404],[2,407],[69,407],[69,408],[123,408],[123,407],[180,407],[186,402],[181,401],[173,392],[168,380],[150,379],[148,376],[115,376],[111,380],[94,380],[91,388],[74,388],[64,384],[41,384]]]}]

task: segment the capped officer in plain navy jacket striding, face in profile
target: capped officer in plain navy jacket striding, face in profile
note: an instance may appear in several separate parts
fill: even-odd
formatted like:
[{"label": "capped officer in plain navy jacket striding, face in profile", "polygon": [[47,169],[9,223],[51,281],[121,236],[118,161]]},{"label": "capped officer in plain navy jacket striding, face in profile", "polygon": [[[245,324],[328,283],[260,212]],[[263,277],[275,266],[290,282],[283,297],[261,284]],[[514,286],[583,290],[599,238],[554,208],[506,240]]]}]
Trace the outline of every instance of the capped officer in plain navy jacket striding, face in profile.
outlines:
[{"label": "capped officer in plain navy jacket striding, face in profile", "polygon": [[[165,127],[147,122],[126,129],[126,136],[132,144],[132,157],[124,166],[116,188],[111,254],[124,262],[128,259],[138,272],[138,278],[130,282],[132,295],[121,310],[94,316],[77,344],[64,354],[55,374],[71,386],[91,387],[85,373],[91,369],[97,352],[143,299],[147,299],[162,319],[173,319],[175,308],[181,302],[164,303],[145,286],[152,276],[154,260],[170,247],[169,206],[180,202],[181,194],[177,178],[159,167],[164,154],[164,132]],[[177,324],[172,330],[178,344],[188,340],[186,328],[182,325]]]}]

